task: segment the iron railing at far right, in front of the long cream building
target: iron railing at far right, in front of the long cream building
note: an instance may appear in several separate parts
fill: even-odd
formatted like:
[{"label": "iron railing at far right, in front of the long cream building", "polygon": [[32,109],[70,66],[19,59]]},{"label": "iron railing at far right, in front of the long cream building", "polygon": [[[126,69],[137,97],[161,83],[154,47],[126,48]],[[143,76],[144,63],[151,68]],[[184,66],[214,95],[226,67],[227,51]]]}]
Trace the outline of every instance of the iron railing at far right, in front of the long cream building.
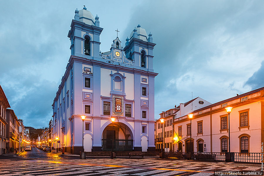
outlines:
[{"label": "iron railing at far right, in front of the long cream building", "polygon": [[263,153],[235,153],[235,162],[261,163]]}]

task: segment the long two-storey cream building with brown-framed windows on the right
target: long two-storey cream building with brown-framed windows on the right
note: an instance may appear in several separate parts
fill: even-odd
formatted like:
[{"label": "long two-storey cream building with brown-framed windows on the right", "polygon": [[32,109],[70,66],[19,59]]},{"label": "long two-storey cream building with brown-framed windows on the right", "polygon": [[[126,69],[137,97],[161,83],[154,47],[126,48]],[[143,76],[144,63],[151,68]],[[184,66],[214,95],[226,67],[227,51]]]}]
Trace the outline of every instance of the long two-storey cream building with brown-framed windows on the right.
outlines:
[{"label": "long two-storey cream building with brown-framed windows on the right", "polygon": [[[226,107],[233,107],[230,119]],[[175,151],[228,152],[230,132],[231,152],[261,153],[264,87],[190,113],[192,122],[187,114],[174,119]]]}]

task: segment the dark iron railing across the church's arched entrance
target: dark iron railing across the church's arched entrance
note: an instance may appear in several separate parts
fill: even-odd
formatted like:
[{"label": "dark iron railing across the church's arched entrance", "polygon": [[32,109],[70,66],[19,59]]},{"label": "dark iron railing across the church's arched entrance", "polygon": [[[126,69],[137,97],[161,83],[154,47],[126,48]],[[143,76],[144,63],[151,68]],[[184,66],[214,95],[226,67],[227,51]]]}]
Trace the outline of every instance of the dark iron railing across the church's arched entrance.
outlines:
[{"label": "dark iron railing across the church's arched entrance", "polygon": [[102,150],[103,151],[132,151],[133,140],[126,139],[102,139]]}]

